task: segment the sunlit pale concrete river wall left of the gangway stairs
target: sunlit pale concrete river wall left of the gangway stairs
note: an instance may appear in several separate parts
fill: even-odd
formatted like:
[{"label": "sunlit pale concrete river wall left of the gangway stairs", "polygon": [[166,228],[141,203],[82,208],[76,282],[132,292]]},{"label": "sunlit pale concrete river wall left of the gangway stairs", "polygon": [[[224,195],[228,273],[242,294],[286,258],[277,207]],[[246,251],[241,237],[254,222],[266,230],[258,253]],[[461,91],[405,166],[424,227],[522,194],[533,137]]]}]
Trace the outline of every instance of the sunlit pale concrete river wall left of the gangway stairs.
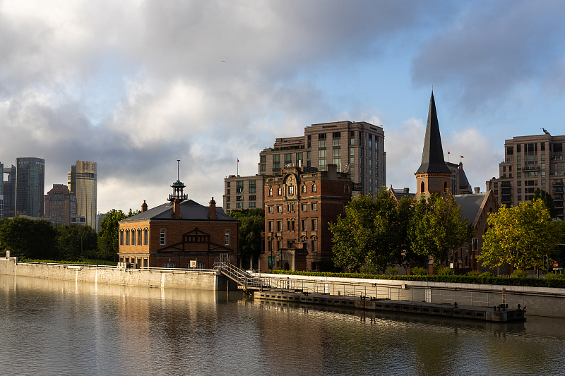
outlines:
[{"label": "sunlit pale concrete river wall left of the gangway stairs", "polygon": [[88,265],[52,265],[16,262],[16,257],[0,257],[0,274],[172,289],[226,290],[237,285],[212,270],[121,269]]}]

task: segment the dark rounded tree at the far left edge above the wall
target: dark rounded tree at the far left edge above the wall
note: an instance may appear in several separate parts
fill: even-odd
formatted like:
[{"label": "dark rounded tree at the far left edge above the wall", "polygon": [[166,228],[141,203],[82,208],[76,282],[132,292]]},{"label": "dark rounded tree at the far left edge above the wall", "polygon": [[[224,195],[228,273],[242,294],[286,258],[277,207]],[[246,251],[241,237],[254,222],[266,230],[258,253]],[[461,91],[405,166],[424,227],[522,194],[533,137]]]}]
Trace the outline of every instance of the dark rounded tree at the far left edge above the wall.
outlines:
[{"label": "dark rounded tree at the far left edge above the wall", "polygon": [[57,230],[47,221],[23,217],[0,222],[0,248],[28,259],[59,260]]}]

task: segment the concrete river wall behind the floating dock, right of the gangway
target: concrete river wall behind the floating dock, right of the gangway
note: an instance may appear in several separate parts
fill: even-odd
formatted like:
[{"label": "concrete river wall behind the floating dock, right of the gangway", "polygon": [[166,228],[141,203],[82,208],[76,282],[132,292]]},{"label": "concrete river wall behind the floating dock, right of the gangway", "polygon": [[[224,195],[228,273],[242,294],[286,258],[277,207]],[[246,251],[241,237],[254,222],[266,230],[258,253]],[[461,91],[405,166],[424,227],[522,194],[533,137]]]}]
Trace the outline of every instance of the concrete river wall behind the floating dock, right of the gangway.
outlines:
[{"label": "concrete river wall behind the floating dock, right of the gangway", "polygon": [[[503,286],[494,284],[449,284],[390,279],[314,277],[283,274],[254,274],[275,289],[299,289],[343,296],[367,296],[396,301],[426,301],[458,305],[526,307],[528,315],[565,317],[565,289]],[[503,291],[504,290],[504,291]]]}]

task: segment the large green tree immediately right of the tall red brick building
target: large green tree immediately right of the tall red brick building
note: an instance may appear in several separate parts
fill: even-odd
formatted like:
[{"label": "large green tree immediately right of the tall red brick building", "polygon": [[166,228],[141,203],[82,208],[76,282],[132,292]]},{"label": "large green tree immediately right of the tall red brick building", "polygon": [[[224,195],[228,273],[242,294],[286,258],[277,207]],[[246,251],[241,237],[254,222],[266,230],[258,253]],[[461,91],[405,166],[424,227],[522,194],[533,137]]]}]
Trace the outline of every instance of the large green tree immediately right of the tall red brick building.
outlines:
[{"label": "large green tree immediately right of the tall red brick building", "polygon": [[384,270],[402,262],[411,217],[410,200],[397,202],[386,188],[375,198],[357,196],[345,207],[345,217],[330,224],[334,264],[358,271],[364,265]]}]

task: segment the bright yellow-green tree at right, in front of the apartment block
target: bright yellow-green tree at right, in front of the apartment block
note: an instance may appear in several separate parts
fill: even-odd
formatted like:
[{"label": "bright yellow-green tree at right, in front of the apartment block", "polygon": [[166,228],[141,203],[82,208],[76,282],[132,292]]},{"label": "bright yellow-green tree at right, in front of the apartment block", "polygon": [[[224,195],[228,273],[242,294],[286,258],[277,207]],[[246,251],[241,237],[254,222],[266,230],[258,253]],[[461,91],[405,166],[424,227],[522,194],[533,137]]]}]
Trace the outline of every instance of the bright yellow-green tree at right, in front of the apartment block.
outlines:
[{"label": "bright yellow-green tree at right, in front of the apartment block", "polygon": [[541,199],[501,207],[487,219],[482,252],[477,260],[487,267],[508,263],[518,270],[543,267],[543,255],[552,253],[561,237]]}]

